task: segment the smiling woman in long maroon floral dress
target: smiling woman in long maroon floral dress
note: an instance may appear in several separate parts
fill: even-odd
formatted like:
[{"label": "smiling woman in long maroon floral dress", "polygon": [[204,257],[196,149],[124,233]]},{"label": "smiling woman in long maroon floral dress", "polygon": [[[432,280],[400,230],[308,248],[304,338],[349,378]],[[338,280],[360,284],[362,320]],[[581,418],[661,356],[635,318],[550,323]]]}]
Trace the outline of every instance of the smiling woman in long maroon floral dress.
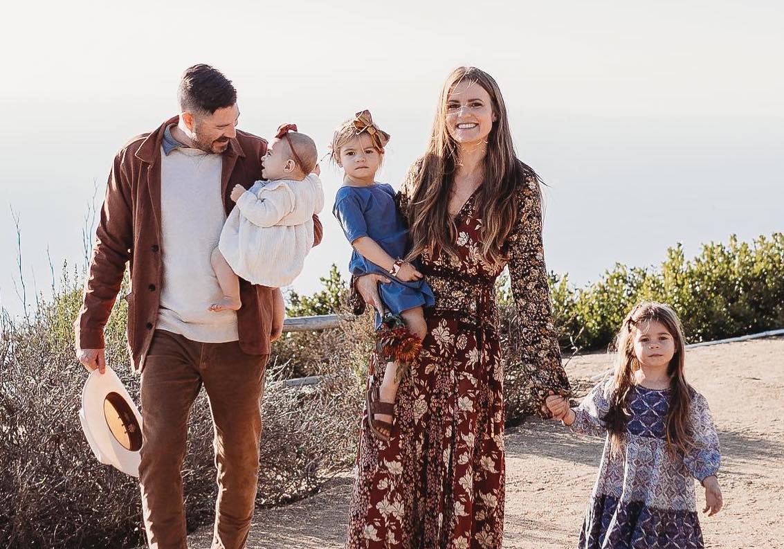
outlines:
[{"label": "smiling woman in long maroon floral dress", "polygon": [[[568,393],[551,319],[539,180],[517,160],[495,80],[459,67],[441,92],[430,146],[400,191],[413,249],[436,305],[401,382],[389,442],[370,436],[358,455],[348,547],[501,547],[503,365],[495,278],[508,264],[532,370],[532,405]],[[383,277],[355,281],[380,308]],[[354,295],[356,298],[356,295]],[[358,307],[361,308],[361,307]],[[379,373],[383,361],[371,358]],[[383,372],[372,377],[378,384]],[[365,414],[368,409],[365,409]]]}]

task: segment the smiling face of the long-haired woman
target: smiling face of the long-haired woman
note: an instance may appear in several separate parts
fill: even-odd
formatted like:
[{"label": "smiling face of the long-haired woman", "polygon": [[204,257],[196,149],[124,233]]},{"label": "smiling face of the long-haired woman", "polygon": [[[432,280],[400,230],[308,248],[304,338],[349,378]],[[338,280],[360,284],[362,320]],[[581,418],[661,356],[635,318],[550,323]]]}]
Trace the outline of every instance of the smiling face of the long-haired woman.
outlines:
[{"label": "smiling face of the long-haired woman", "polygon": [[492,100],[477,82],[458,82],[446,100],[446,127],[449,136],[458,144],[487,141],[495,113]]}]

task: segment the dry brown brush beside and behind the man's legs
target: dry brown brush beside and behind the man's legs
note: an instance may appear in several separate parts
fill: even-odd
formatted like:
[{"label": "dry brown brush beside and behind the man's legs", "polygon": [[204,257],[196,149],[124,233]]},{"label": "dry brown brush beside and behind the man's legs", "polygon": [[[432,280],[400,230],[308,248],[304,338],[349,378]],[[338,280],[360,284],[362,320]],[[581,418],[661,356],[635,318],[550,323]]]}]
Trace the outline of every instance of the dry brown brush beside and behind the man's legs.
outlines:
[{"label": "dry brown brush beside and behind the man's legs", "polygon": [[[29,322],[0,317],[0,547],[134,547],[143,541],[136,479],[100,464],[78,422],[85,370],[74,360],[68,296]],[[68,299],[66,299],[68,297]],[[74,303],[78,301],[75,300]],[[114,319],[125,311],[121,300]],[[296,390],[279,383],[288,366],[273,364],[263,402],[257,504],[299,499],[350,462],[356,447],[361,383],[358,336],[347,319],[324,336],[334,354],[314,366],[320,384]],[[122,333],[107,354],[125,358]],[[327,343],[326,340],[329,340]],[[139,402],[139,378],[116,359],[114,369]],[[212,520],[215,467],[212,421],[204,394],[194,404],[183,467],[189,529]]]}]

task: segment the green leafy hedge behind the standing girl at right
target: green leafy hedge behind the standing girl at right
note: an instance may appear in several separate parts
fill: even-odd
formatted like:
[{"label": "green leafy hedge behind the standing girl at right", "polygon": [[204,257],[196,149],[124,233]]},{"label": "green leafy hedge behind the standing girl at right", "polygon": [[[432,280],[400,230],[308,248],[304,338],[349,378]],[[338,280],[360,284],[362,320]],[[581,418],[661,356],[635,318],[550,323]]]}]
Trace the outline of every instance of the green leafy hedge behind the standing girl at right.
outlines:
[{"label": "green leafy hedge behind the standing girl at right", "polygon": [[[561,343],[571,336],[579,347],[606,347],[637,300],[670,304],[681,316],[687,340],[719,340],[784,326],[784,234],[728,244],[711,242],[688,260],[678,244],[659,268],[616,264],[584,289],[553,284]],[[563,282],[563,280],[561,280]]]}]

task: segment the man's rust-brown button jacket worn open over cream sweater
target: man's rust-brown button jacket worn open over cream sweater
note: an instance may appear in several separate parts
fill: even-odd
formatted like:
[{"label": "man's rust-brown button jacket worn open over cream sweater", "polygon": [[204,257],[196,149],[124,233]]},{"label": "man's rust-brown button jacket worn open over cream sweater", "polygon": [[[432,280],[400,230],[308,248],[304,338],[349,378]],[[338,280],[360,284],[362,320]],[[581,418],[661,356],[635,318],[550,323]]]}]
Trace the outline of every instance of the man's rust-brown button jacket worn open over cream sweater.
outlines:
[{"label": "man's rust-brown button jacket worn open over cream sweater", "polygon": [[[161,142],[174,117],[152,133],[133,138],[114,158],[96,230],[96,243],[82,308],[74,322],[77,349],[102,349],[103,327],[120,291],[125,263],[130,261],[128,347],[135,371],[144,357],[158,319],[162,284]],[[234,185],[245,188],[261,176],[267,141],[238,131],[223,152],[220,184],[226,213],[234,207]],[[198,199],[196,197],[195,199]],[[314,216],[314,245],[321,242],[321,222]],[[183,281],[187,284],[187,280]],[[274,289],[240,279],[242,307],[237,311],[239,343],[247,354],[270,354]]]}]

